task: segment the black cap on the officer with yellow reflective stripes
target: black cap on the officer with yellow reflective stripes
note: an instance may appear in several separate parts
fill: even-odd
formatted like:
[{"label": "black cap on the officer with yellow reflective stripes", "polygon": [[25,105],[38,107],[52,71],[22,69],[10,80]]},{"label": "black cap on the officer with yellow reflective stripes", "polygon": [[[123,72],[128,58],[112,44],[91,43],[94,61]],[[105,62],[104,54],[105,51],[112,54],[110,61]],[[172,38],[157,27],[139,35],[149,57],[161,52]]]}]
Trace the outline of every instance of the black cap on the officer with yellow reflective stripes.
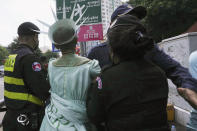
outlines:
[{"label": "black cap on the officer with yellow reflective stripes", "polygon": [[40,29],[31,22],[24,22],[18,27],[18,35],[35,35],[39,34]]}]

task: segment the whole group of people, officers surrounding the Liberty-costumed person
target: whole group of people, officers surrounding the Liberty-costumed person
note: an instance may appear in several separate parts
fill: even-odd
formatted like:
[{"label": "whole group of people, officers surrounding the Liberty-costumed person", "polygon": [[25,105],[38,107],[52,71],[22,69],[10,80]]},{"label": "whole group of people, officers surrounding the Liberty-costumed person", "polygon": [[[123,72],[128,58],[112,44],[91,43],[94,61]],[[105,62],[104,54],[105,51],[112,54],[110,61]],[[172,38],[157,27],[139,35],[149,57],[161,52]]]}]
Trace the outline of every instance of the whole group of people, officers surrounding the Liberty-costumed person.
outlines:
[{"label": "whole group of people, officers surrounding the Liberty-costumed person", "polygon": [[[146,13],[142,6],[119,6],[111,16],[107,41],[88,58],[75,54],[74,21],[56,21],[48,34],[62,56],[49,61],[48,71],[34,54],[39,28],[22,23],[20,45],[4,65],[3,130],[170,131],[167,78],[197,109],[197,55],[191,55],[188,71],[160,50],[141,23]],[[188,130],[197,129],[196,112]]]}]

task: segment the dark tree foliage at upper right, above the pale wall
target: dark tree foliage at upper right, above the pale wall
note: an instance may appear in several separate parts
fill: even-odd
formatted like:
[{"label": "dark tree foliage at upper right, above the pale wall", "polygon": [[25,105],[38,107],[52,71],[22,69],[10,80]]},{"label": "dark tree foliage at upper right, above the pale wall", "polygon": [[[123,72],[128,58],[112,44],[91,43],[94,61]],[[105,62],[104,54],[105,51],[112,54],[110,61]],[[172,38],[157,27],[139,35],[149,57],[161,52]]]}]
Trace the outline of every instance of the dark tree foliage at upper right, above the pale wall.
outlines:
[{"label": "dark tree foliage at upper right, above the pale wall", "polygon": [[130,0],[147,8],[144,23],[156,41],[184,33],[197,20],[197,0]]}]

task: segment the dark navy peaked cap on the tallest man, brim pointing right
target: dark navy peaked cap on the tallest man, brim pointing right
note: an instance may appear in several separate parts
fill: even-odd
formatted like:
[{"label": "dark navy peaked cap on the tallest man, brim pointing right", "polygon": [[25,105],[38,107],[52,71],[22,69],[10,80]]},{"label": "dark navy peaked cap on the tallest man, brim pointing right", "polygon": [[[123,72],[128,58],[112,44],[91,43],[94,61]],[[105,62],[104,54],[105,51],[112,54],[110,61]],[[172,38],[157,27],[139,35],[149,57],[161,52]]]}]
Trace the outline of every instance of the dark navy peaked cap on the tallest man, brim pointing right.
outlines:
[{"label": "dark navy peaked cap on the tallest man, brim pointing right", "polygon": [[143,6],[132,7],[129,4],[123,4],[112,13],[111,22],[113,22],[119,15],[123,14],[136,14],[139,19],[143,19],[146,16],[146,13],[146,8]]}]

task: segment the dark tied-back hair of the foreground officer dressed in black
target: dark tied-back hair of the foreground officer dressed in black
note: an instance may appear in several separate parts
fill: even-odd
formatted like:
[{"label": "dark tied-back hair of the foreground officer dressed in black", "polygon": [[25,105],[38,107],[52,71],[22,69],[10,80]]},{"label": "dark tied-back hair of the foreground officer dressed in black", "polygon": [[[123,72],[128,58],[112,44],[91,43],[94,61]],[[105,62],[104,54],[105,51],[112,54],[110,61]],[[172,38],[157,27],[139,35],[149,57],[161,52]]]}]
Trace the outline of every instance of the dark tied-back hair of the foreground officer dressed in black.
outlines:
[{"label": "dark tied-back hair of the foreground officer dressed in black", "polygon": [[108,32],[108,42],[120,60],[143,58],[153,48],[152,38],[147,36],[145,28],[133,26],[116,26]]}]

